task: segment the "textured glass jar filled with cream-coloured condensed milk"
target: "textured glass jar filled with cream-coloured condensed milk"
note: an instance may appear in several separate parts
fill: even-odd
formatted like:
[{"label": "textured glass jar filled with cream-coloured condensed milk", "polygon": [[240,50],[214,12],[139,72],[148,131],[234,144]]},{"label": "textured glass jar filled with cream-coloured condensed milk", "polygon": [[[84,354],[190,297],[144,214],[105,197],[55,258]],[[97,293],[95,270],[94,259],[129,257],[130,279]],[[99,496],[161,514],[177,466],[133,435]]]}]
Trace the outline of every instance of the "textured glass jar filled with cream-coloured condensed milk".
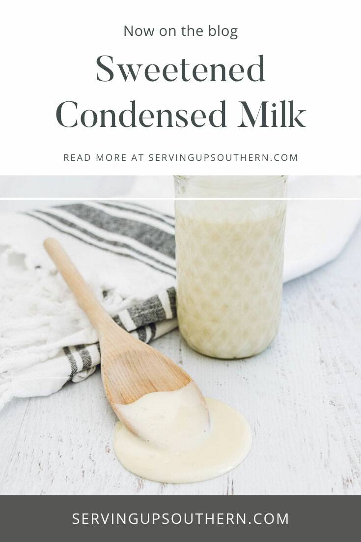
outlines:
[{"label": "textured glass jar filled with cream-coloured condensed milk", "polygon": [[174,179],[181,334],[206,356],[262,352],[281,312],[286,177]]}]

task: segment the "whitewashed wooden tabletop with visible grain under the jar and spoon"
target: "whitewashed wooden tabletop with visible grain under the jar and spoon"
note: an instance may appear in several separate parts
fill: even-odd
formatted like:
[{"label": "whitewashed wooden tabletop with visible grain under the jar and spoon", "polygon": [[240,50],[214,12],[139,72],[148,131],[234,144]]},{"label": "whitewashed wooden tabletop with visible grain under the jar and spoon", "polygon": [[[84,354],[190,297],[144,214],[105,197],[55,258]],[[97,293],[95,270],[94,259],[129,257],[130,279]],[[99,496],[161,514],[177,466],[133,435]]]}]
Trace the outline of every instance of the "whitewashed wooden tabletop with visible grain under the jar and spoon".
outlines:
[{"label": "whitewashed wooden tabletop with visible grain under the jar and spoon", "polygon": [[250,422],[253,448],[233,472],[185,485],[128,473],[97,371],[0,412],[1,493],[360,494],[360,269],[361,227],[336,261],[285,285],[277,338],[254,358],[211,360],[178,331],[153,343]]}]

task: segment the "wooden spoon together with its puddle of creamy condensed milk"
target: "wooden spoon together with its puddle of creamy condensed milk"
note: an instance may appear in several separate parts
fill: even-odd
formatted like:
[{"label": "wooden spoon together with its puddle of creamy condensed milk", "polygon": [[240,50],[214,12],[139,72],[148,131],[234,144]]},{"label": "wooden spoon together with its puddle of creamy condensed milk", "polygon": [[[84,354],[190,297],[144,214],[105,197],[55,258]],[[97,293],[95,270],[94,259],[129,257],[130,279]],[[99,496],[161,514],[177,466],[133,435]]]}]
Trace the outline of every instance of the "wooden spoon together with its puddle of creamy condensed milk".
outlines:
[{"label": "wooden spoon together with its puddle of creamy condensed milk", "polygon": [[44,246],[99,335],[104,390],[120,418],[115,453],[124,467],[150,480],[196,482],[245,459],[252,438],[244,418],[205,399],[181,367],[117,326],[61,245],[49,238]]}]

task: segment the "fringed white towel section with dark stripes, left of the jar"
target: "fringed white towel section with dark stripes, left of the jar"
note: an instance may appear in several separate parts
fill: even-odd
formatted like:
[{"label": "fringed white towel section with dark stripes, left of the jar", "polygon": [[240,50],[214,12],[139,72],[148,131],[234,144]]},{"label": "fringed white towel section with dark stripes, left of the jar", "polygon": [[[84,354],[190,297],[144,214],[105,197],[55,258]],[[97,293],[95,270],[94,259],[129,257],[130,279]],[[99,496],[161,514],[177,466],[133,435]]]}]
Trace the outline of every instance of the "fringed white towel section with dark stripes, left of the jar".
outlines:
[{"label": "fringed white towel section with dark stripes, left of the jar", "polygon": [[95,330],[42,247],[49,236],[132,335],[149,343],[176,327],[172,216],[135,202],[0,216],[0,409],[80,382],[100,363]]}]

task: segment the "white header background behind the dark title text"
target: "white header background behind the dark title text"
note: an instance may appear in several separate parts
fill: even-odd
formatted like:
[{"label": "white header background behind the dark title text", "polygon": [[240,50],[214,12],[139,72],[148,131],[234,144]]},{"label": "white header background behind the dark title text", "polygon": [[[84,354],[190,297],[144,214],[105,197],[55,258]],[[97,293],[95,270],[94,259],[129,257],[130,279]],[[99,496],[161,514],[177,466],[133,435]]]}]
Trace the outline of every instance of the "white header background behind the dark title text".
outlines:
[{"label": "white header background behind the dark title text", "polygon": [[[358,3],[9,2],[3,12],[1,173],[139,175],[287,173],[355,175],[359,171]],[[123,26],[237,27],[229,37],[124,37]],[[115,63],[257,62],[265,82],[96,81],[96,58]],[[227,128],[63,128],[56,107],[214,109],[227,101]],[[238,128],[238,101],[294,100],[306,128]],[[257,106],[258,109],[258,106]],[[64,163],[63,153],[297,153],[298,162]]]}]

